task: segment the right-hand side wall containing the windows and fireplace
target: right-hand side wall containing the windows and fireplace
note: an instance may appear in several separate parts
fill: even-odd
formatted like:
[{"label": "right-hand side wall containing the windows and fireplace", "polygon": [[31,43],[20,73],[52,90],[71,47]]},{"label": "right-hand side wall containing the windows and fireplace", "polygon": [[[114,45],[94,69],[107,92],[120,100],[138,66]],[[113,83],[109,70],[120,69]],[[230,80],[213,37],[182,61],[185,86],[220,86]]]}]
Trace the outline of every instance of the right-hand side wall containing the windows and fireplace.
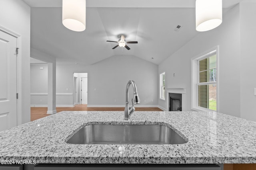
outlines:
[{"label": "right-hand side wall containing the windows and fireplace", "polygon": [[[239,4],[223,15],[216,29],[201,32],[159,64],[166,73],[166,88],[186,88],[186,110],[191,109],[191,58],[219,45],[219,112],[240,117],[240,15]],[[175,73],[175,77],[173,76]],[[159,85],[158,85],[159,86]],[[159,98],[159,97],[158,97]],[[165,101],[158,100],[166,108]]]}]

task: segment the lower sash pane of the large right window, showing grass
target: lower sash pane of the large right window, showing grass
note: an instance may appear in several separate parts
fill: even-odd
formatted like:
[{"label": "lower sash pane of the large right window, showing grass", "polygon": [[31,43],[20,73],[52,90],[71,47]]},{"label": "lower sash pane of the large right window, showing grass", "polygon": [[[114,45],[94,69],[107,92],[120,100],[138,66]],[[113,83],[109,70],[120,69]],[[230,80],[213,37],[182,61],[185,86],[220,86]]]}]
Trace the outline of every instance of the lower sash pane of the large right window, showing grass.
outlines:
[{"label": "lower sash pane of the large right window, showing grass", "polygon": [[198,106],[216,111],[216,84],[198,86]]}]

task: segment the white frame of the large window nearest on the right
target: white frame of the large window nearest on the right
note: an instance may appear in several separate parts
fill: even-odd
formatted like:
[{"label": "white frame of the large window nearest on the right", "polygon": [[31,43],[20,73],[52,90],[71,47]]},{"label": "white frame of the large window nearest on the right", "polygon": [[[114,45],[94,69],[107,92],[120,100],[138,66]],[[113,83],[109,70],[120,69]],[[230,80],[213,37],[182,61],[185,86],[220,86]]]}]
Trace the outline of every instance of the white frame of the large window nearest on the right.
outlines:
[{"label": "white frame of the large window nearest on the right", "polygon": [[[198,77],[199,77],[199,68],[198,68],[198,61],[208,57],[209,55],[211,55],[212,53],[215,53],[216,51],[216,83],[214,82],[214,84],[216,84],[216,111],[219,110],[219,72],[220,72],[220,68],[219,68],[219,47],[214,47],[204,53],[202,53],[201,55],[198,55],[196,57],[193,57],[191,59],[191,109],[195,110],[195,111],[213,111],[211,109],[207,109],[204,107],[200,107],[198,106]],[[211,82],[210,82],[211,83]],[[200,83],[202,84],[202,83]],[[209,84],[209,83],[207,83]]]}]

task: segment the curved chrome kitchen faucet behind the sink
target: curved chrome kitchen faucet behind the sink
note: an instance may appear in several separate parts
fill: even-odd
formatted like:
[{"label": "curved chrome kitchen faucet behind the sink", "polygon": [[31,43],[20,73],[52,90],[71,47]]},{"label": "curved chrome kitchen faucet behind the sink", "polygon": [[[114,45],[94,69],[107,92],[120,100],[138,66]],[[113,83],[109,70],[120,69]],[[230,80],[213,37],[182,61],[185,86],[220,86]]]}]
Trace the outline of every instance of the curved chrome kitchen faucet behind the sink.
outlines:
[{"label": "curved chrome kitchen faucet behind the sink", "polygon": [[[129,107],[128,90],[129,90],[131,84],[133,87],[134,94],[133,94],[133,98],[132,98],[132,107]],[[140,104],[140,98],[138,96],[136,83],[133,80],[130,80],[130,81],[128,81],[128,83],[126,85],[124,120],[130,119],[131,114],[135,111],[134,104]]]}]

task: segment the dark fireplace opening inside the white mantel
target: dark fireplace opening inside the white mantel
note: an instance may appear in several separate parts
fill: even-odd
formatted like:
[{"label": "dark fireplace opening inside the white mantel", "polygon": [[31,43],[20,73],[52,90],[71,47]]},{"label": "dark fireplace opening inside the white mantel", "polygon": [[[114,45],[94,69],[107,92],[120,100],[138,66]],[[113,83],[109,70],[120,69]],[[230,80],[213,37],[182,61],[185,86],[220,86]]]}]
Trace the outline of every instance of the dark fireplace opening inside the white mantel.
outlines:
[{"label": "dark fireplace opening inside the white mantel", "polygon": [[182,111],[182,94],[169,93],[169,111]]}]

